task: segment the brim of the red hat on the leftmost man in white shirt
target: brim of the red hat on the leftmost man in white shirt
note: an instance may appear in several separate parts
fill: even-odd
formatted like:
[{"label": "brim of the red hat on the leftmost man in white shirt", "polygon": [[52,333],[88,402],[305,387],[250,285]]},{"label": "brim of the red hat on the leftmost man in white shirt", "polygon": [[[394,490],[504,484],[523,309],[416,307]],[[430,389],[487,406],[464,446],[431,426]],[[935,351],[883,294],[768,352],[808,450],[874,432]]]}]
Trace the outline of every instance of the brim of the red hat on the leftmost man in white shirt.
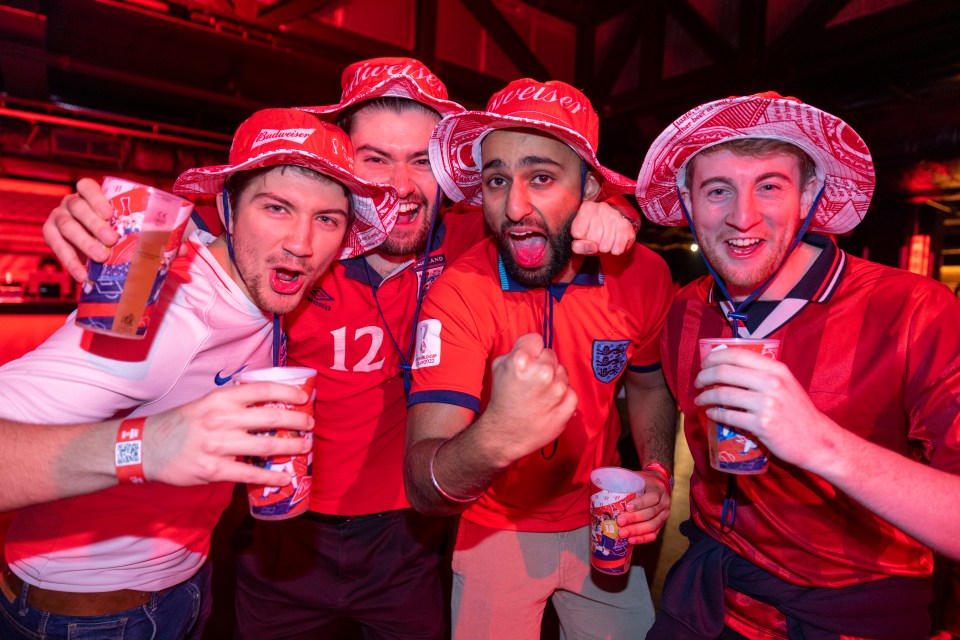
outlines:
[{"label": "brim of the red hat on the leftmost man in white shirt", "polygon": [[[380,245],[397,221],[400,198],[389,185],[366,182],[342,167],[318,155],[299,150],[276,150],[250,158],[237,165],[200,167],[183,172],[173,192],[194,203],[209,202],[223,191],[227,178],[238,171],[294,165],[311,169],[336,180],[350,192],[353,220],[338,256],[351,258]],[[222,222],[222,221],[221,221]]]}]

